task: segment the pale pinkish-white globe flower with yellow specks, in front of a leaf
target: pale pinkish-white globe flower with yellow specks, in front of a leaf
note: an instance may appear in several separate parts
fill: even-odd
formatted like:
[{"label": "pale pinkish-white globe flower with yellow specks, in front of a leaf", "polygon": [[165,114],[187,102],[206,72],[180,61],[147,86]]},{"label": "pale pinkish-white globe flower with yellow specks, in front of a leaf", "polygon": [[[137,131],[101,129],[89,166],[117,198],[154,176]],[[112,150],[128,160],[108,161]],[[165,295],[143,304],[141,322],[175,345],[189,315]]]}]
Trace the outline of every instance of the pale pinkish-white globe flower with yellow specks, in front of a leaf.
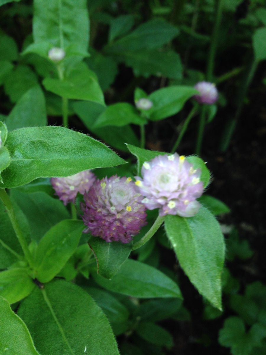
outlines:
[{"label": "pale pinkish-white globe flower with yellow specks, in front of a leaf", "polygon": [[159,155],[142,166],[142,176],[136,177],[135,187],[145,198],[148,209],[159,208],[159,215],[177,214],[193,217],[200,204],[196,198],[203,193],[201,170],[185,160],[184,155]]}]

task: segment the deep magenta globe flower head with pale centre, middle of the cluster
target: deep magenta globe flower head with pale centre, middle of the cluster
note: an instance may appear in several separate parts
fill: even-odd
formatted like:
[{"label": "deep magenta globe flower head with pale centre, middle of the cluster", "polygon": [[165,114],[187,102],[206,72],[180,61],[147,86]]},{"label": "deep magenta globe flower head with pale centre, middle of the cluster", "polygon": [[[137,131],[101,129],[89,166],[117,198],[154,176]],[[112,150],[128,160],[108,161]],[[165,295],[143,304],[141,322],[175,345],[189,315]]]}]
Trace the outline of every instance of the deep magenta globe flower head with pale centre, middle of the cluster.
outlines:
[{"label": "deep magenta globe flower head with pale centre, middle of the cluster", "polygon": [[135,190],[131,178],[111,178],[97,180],[85,193],[83,222],[90,232],[107,242],[129,243],[146,224],[143,196]]}]

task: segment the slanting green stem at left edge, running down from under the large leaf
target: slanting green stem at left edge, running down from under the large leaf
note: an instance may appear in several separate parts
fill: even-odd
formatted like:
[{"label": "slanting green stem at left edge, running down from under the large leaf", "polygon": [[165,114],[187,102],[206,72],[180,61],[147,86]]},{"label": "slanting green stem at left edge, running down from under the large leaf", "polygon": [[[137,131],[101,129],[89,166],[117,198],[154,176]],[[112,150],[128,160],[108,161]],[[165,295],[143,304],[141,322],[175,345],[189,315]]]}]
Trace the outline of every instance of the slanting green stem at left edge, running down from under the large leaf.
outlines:
[{"label": "slanting green stem at left edge, running down from under the large leaf", "polygon": [[33,264],[34,264],[33,257],[31,255],[31,252],[29,251],[27,241],[20,229],[20,225],[17,221],[11,200],[10,200],[9,196],[7,195],[5,189],[0,189],[0,199],[2,200],[2,202],[4,203],[4,205],[6,207],[7,214],[9,215],[12,227],[16,233],[18,241],[20,242],[20,245],[21,245],[23,253],[26,257],[26,260],[28,261],[29,266],[33,267]]}]

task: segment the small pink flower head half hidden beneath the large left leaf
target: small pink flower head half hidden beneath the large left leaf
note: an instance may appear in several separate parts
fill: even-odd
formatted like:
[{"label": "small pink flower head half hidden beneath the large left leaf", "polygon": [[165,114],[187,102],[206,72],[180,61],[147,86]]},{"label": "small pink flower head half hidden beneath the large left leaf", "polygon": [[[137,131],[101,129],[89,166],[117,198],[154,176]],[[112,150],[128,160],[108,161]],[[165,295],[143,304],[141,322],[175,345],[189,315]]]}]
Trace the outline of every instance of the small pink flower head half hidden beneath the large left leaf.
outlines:
[{"label": "small pink flower head half hidden beneath the large left leaf", "polygon": [[66,206],[69,202],[75,202],[78,192],[83,195],[88,191],[95,179],[95,175],[90,170],[85,170],[66,178],[51,178],[51,184],[55,194]]}]

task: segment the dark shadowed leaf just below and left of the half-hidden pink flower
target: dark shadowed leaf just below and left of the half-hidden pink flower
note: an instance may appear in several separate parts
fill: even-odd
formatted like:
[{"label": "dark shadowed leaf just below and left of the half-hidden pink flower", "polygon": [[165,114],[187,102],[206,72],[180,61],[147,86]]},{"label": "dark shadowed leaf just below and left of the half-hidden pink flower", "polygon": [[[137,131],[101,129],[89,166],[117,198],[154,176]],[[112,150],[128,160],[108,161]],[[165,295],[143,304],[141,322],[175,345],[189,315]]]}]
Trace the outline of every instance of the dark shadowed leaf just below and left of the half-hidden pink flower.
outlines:
[{"label": "dark shadowed leaf just below and left of the half-hidden pink flower", "polygon": [[39,241],[53,225],[70,218],[62,202],[45,192],[23,193],[12,189],[11,196],[29,220],[33,240]]}]

